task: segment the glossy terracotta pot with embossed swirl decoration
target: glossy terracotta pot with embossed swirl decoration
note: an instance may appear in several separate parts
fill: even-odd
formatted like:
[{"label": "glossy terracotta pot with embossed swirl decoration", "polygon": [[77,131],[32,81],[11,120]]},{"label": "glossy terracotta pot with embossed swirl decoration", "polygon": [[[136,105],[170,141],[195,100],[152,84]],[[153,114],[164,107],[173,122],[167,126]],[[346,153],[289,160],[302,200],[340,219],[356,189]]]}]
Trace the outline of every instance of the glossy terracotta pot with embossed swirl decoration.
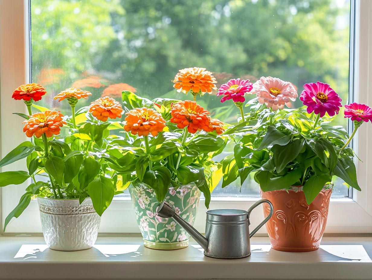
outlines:
[{"label": "glossy terracotta pot with embossed swirl decoration", "polygon": [[[309,252],[319,248],[327,223],[329,201],[332,189],[323,189],[308,205],[302,190],[276,190],[262,192],[274,206],[274,214],[266,223],[271,246],[285,252]],[[265,217],[270,208],[263,205]]]}]

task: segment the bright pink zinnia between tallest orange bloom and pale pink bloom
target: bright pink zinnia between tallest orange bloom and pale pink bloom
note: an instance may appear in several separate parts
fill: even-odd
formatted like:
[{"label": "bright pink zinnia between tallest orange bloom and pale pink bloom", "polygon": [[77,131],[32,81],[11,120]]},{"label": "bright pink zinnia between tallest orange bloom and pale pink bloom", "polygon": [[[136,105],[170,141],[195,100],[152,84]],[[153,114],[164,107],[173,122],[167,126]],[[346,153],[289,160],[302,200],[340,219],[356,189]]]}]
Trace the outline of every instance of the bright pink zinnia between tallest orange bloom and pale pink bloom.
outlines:
[{"label": "bright pink zinnia between tallest orange bloom and pale pink bloom", "polygon": [[223,84],[219,89],[217,96],[224,95],[221,102],[232,99],[234,102],[244,102],[244,94],[251,91],[253,84],[249,80],[231,79],[226,84]]}]

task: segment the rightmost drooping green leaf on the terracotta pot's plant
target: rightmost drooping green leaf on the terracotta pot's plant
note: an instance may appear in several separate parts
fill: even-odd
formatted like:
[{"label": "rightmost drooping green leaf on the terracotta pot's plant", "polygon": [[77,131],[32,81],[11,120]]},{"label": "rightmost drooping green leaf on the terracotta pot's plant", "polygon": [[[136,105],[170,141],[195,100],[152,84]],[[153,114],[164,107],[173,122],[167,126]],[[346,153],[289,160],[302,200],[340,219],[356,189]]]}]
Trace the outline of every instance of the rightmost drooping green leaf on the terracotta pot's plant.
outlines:
[{"label": "rightmost drooping green leaf on the terracotta pot's plant", "polygon": [[337,161],[333,169],[333,174],[344,180],[356,190],[361,190],[356,178],[356,168],[354,161],[348,155],[343,154]]}]

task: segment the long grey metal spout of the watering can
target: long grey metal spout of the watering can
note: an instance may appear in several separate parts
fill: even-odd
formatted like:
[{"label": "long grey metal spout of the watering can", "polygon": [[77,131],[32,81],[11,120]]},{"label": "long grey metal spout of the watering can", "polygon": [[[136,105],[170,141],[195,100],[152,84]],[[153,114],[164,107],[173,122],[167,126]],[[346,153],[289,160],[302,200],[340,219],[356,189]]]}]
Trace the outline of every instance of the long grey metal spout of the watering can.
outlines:
[{"label": "long grey metal spout of the watering can", "polygon": [[167,203],[163,202],[157,207],[157,215],[161,218],[173,218],[185,231],[195,239],[196,242],[205,250],[208,251],[208,239],[201,235],[192,225],[187,223],[184,219],[176,213],[176,210]]}]

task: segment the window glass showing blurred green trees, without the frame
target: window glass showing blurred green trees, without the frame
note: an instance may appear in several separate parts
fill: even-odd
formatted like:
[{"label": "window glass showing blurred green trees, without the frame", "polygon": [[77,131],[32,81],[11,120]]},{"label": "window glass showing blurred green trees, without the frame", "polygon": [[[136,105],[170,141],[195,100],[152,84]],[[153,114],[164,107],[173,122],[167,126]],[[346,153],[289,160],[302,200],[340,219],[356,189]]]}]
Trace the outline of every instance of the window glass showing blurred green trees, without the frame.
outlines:
[{"label": "window glass showing blurred green trees, without the frame", "polygon": [[[217,86],[232,77],[329,83],[346,103],[349,92],[347,0],[31,0],[32,81],[47,87],[42,106],[70,114],[53,97],[68,87],[121,99],[122,90],[153,99],[190,99],[171,80],[179,69],[205,67]],[[237,111],[216,93],[199,104],[214,117],[236,122]],[[252,96],[253,98],[253,96]],[[294,106],[301,106],[296,100]],[[341,113],[342,115],[342,113]],[[334,121],[347,127],[339,116]],[[232,149],[231,149],[232,151]],[[226,152],[228,153],[228,151]],[[222,156],[220,156],[221,158]],[[349,196],[335,180],[333,196]],[[218,196],[258,196],[250,177]]]}]

